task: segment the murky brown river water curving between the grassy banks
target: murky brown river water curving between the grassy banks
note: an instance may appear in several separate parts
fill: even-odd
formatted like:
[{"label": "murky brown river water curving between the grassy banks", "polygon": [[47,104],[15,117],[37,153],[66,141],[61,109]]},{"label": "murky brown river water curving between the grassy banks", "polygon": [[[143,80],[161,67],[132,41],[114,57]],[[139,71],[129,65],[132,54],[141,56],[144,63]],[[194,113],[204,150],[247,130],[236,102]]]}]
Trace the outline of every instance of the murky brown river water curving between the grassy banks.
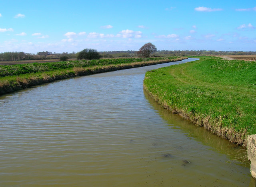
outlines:
[{"label": "murky brown river water curving between the grassy banks", "polygon": [[241,147],[144,94],[147,70],[178,63],[0,97],[0,186],[254,186]]}]

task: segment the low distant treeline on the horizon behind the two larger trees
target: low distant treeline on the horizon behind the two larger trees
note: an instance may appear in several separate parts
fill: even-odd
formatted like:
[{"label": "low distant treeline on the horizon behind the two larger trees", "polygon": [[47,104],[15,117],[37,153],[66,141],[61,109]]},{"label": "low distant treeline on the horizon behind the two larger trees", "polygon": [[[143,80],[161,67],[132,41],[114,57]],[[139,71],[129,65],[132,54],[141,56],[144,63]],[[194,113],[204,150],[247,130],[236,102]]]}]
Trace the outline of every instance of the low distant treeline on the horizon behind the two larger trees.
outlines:
[{"label": "low distant treeline on the horizon behind the two larger trees", "polygon": [[[137,57],[137,51],[104,51],[99,52],[101,58],[120,58],[120,57]],[[153,52],[153,57],[165,57],[165,56],[207,56],[207,55],[256,55],[256,52],[244,52],[244,51],[214,51],[214,50],[158,50]],[[24,53],[24,52],[4,52],[0,53],[0,61],[13,61],[13,60],[46,60],[46,59],[58,59],[61,56],[67,56],[68,59],[74,59],[77,57],[76,52],[68,53],[52,53],[52,52],[38,52],[37,54]]]}]

